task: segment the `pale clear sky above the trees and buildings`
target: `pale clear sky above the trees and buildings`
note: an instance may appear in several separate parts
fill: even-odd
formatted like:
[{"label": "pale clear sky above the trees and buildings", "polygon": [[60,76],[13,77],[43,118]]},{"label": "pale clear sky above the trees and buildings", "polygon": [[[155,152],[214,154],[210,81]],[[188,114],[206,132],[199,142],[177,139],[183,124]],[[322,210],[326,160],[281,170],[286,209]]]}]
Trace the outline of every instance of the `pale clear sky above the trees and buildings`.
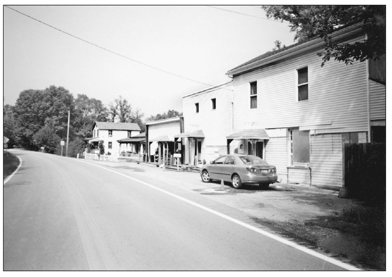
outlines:
[{"label": "pale clear sky above the trees and buildings", "polygon": [[54,85],[105,106],[121,95],[145,118],[182,112],[184,95],[229,82],[275,40],[295,43],[260,6],[9,7],[25,15],[3,6],[4,105]]}]

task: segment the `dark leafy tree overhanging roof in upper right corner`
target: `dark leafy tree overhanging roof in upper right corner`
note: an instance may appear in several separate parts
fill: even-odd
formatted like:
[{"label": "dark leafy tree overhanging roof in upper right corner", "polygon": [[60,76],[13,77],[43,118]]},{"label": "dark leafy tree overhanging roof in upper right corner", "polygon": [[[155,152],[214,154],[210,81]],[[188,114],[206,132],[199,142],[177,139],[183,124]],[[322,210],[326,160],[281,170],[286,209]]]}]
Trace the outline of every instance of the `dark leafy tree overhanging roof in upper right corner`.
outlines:
[{"label": "dark leafy tree overhanging roof in upper right corner", "polygon": [[[355,61],[379,59],[386,51],[386,6],[383,5],[276,5],[263,6],[267,17],[290,22],[295,31],[294,40],[305,42],[318,36],[325,42],[321,66],[331,58],[352,64]],[[352,44],[338,44],[330,34],[363,22],[362,29],[367,38]]]}]

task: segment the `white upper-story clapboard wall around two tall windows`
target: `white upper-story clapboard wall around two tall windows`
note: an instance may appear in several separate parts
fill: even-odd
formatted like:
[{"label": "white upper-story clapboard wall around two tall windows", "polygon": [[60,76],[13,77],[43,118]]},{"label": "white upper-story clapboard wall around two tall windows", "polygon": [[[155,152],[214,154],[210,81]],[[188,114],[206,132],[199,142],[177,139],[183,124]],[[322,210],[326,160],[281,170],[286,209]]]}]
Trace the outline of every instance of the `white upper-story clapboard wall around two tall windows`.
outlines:
[{"label": "white upper-story clapboard wall around two tall windows", "polygon": [[[233,77],[234,132],[250,128],[302,127],[319,132],[368,130],[367,66],[328,61],[316,52]],[[309,99],[296,101],[297,69],[308,67]],[[250,109],[250,82],[257,108]]]}]

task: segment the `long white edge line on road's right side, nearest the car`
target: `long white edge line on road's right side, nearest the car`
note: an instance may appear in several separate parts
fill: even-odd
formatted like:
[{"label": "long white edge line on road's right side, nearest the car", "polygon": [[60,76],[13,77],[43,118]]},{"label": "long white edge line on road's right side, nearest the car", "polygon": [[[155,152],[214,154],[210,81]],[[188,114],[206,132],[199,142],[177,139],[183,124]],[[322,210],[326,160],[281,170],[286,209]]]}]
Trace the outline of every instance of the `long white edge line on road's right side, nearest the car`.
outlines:
[{"label": "long white edge line on road's right side, nearest the car", "polygon": [[257,227],[254,227],[254,226],[250,225],[250,224],[247,224],[247,223],[245,223],[245,222],[242,222],[242,221],[237,220],[237,219],[235,219],[235,218],[232,218],[232,217],[230,217],[230,216],[227,216],[227,215],[224,215],[224,214],[219,213],[219,212],[217,212],[217,211],[214,211],[214,210],[212,210],[212,209],[210,209],[210,208],[207,208],[207,207],[205,207],[205,206],[203,206],[203,205],[197,204],[197,203],[195,203],[195,202],[193,202],[193,201],[191,201],[191,200],[188,200],[188,199],[183,198],[183,197],[181,197],[181,196],[178,196],[178,195],[176,195],[176,194],[170,193],[169,191],[165,191],[164,189],[161,189],[161,188],[156,187],[156,186],[154,186],[154,185],[151,185],[151,184],[149,184],[149,183],[143,182],[143,181],[138,180],[138,179],[136,179],[136,178],[133,178],[133,177],[131,177],[131,176],[127,176],[127,175],[125,175],[125,174],[123,174],[123,173],[114,171],[113,169],[108,169],[107,167],[102,167],[102,166],[100,166],[100,165],[96,165],[96,164],[94,164],[94,163],[89,163],[89,162],[87,162],[87,161],[82,161],[82,160],[77,160],[77,161],[80,161],[80,162],[83,162],[83,163],[88,163],[88,164],[90,164],[90,165],[94,165],[94,166],[100,167],[100,168],[102,168],[102,169],[106,169],[107,171],[114,172],[114,173],[116,173],[116,174],[119,174],[119,175],[121,175],[121,176],[124,176],[125,178],[129,178],[129,179],[134,180],[134,181],[136,181],[136,182],[138,182],[138,183],[142,183],[143,185],[146,185],[146,186],[148,186],[148,187],[151,187],[151,188],[153,188],[153,189],[156,189],[156,190],[158,190],[158,191],[161,191],[161,192],[163,192],[163,193],[165,193],[165,194],[168,194],[168,195],[170,195],[170,196],[173,196],[173,197],[175,197],[175,198],[177,198],[177,199],[179,199],[179,200],[182,200],[182,201],[187,202],[187,203],[189,203],[189,204],[191,204],[191,205],[194,205],[194,206],[196,206],[196,207],[199,207],[200,209],[203,209],[203,210],[205,210],[205,211],[208,211],[208,212],[210,212],[210,213],[213,213],[214,215],[218,215],[218,216],[220,216],[220,217],[222,217],[222,218],[225,218],[225,219],[227,219],[227,220],[230,220],[231,222],[234,222],[234,223],[239,224],[239,225],[241,225],[241,226],[243,226],[243,227],[246,227],[246,228],[248,228],[248,229],[250,229],[250,230],[253,230],[253,231],[257,232],[257,233],[260,233],[260,234],[265,235],[265,236],[267,236],[267,237],[269,237],[269,238],[272,238],[272,239],[274,239],[274,240],[277,240],[277,241],[279,241],[279,242],[281,242],[281,243],[283,243],[283,244],[289,245],[289,246],[291,246],[291,247],[293,247],[293,248],[296,248],[296,249],[298,249],[298,250],[300,250],[300,251],[302,251],[302,252],[305,252],[305,253],[307,253],[307,254],[309,254],[309,255],[312,255],[312,256],[317,257],[317,258],[319,258],[319,259],[322,259],[322,260],[325,260],[325,261],[327,261],[327,262],[330,262],[331,264],[334,264],[334,265],[336,265],[336,266],[340,266],[341,268],[344,268],[344,269],[346,269],[346,270],[360,270],[359,268],[356,268],[356,267],[354,267],[354,266],[351,266],[351,265],[346,264],[346,263],[344,263],[344,262],[341,262],[341,261],[339,261],[339,260],[330,258],[330,257],[328,257],[328,256],[326,256],[326,255],[323,255],[323,254],[321,254],[321,253],[318,253],[318,252],[316,252],[316,251],[314,251],[314,250],[312,250],[312,249],[306,248],[306,247],[304,247],[304,246],[300,246],[300,245],[296,244],[295,242],[292,242],[292,241],[290,241],[290,240],[286,240],[285,238],[281,238],[281,237],[278,237],[277,235],[268,233],[267,231],[261,230],[261,229],[259,229],[259,228],[257,228]]}]

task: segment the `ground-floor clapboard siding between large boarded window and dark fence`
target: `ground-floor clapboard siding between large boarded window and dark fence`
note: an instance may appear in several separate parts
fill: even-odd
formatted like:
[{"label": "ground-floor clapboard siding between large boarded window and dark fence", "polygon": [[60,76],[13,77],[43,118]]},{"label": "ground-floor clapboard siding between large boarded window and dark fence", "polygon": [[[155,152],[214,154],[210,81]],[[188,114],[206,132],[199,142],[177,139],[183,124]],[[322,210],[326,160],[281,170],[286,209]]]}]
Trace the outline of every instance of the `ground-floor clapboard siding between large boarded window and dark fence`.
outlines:
[{"label": "ground-floor clapboard siding between large boarded window and dark fence", "polygon": [[312,185],[343,185],[341,134],[310,136]]}]

